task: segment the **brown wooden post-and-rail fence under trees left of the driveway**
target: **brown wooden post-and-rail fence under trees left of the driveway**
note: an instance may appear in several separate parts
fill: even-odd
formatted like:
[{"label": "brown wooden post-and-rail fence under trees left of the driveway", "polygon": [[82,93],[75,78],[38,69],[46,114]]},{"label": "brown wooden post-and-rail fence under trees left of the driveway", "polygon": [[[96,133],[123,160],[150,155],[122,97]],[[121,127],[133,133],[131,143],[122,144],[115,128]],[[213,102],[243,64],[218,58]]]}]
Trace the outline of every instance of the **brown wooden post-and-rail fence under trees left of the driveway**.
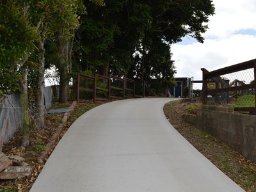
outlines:
[{"label": "brown wooden post-and-rail fence under trees left of the driveway", "polygon": [[[93,88],[83,88],[81,87],[81,78],[93,81]],[[107,88],[102,88],[97,86],[98,80],[102,80],[108,82]],[[113,86],[113,81],[119,81],[122,83],[122,86]],[[132,88],[127,87],[127,83],[132,84]],[[83,85],[82,85],[83,86]],[[101,90],[104,92],[108,92],[108,97],[102,98],[102,97],[97,97],[97,90]],[[122,97],[114,96],[111,94],[112,90],[117,90],[119,92],[122,92]],[[117,76],[112,76],[109,75],[109,77],[101,76],[99,74],[95,74],[95,76],[88,76],[85,74],[77,74],[77,102],[79,102],[80,98],[80,91],[84,92],[90,92],[93,93],[93,102],[96,102],[97,100],[111,100],[111,99],[125,99],[125,98],[134,98],[135,97],[135,81],[132,79],[128,79],[126,77],[120,78]],[[132,96],[127,95],[127,92],[132,92]]]}]

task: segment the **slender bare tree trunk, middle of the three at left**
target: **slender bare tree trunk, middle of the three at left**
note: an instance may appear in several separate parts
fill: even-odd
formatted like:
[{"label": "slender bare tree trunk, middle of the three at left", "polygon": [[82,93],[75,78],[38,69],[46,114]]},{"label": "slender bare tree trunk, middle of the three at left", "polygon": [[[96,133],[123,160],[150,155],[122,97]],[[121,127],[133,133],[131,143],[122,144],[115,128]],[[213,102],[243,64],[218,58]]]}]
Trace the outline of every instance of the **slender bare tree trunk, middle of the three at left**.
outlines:
[{"label": "slender bare tree trunk, middle of the three at left", "polygon": [[44,127],[44,72],[45,72],[45,33],[41,32],[40,39],[37,44],[38,48],[38,93],[36,97],[36,127],[41,129]]}]

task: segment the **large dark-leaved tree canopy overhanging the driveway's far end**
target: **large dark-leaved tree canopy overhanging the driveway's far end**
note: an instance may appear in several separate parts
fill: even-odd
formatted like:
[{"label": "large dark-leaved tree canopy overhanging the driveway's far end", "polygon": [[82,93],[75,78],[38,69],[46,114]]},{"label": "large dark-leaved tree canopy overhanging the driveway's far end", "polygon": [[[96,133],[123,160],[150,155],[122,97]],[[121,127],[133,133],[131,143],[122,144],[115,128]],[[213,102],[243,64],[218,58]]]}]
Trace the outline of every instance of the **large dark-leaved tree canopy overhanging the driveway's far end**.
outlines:
[{"label": "large dark-leaved tree canopy overhanging the driveway's far end", "polygon": [[[184,35],[203,42],[205,23],[214,13],[210,0],[108,1],[104,7],[87,2],[86,8],[88,15],[82,17],[77,33],[77,63],[100,74],[111,71],[141,80],[152,73],[173,76],[170,46]],[[170,74],[162,73],[161,67]]]}]

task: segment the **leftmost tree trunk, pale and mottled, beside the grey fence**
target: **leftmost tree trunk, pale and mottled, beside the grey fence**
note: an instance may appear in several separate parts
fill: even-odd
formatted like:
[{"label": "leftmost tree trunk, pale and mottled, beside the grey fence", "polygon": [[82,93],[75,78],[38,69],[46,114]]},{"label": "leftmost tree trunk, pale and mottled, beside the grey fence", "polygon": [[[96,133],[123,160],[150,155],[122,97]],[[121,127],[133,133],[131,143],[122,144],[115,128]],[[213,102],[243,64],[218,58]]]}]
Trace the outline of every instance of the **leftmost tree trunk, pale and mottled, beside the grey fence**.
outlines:
[{"label": "leftmost tree trunk, pale and mottled, beside the grey fence", "polygon": [[29,145],[29,112],[28,112],[28,67],[24,66],[22,79],[20,80],[20,106],[22,114],[22,146]]}]

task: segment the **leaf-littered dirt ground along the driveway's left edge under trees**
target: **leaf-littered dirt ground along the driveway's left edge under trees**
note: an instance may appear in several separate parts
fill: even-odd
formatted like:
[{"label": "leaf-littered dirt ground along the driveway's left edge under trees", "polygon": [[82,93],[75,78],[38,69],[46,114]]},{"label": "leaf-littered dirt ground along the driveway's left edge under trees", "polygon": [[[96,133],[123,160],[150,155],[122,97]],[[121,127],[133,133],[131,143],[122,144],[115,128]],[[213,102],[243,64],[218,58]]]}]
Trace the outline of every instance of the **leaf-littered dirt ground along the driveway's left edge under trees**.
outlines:
[{"label": "leaf-littered dirt ground along the driveway's left edge under trees", "polygon": [[[71,103],[70,103],[71,104]],[[68,108],[70,104],[55,104],[54,108]],[[68,118],[65,127],[63,127],[61,131],[61,136],[58,141],[62,138],[65,132],[68,130],[70,125],[83,113],[86,111],[95,108],[104,104],[104,102],[96,102],[93,103],[92,101],[86,101],[84,103],[79,103],[76,105],[76,108],[71,113],[70,118]],[[9,191],[29,191],[33,183],[35,182],[36,178],[38,177],[39,173],[41,172],[42,168],[44,167],[44,163],[39,163],[37,161],[37,157],[40,155],[41,152],[45,150],[45,145],[51,139],[52,134],[56,131],[56,128],[61,123],[63,118],[63,114],[46,114],[45,115],[45,128],[44,129],[36,129],[31,127],[30,131],[30,145],[26,148],[20,147],[22,142],[22,134],[18,131],[12,140],[8,143],[5,143],[3,146],[4,154],[8,155],[15,155],[24,157],[25,162],[29,164],[32,168],[32,174],[29,177],[24,179],[16,179],[16,180],[0,180],[0,192],[9,192]],[[53,148],[52,148],[53,150]],[[52,151],[51,150],[51,151]],[[50,156],[50,154],[49,154]]]}]

